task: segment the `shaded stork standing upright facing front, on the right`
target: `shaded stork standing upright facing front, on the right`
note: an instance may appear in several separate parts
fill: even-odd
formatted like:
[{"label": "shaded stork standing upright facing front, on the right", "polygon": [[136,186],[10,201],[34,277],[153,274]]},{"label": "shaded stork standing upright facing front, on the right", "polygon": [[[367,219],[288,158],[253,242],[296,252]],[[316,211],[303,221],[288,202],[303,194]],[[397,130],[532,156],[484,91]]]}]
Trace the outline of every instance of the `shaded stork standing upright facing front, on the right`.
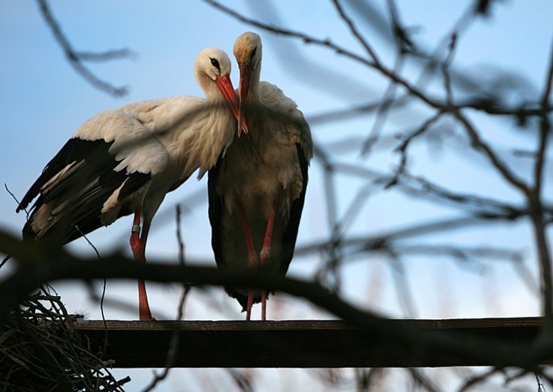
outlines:
[{"label": "shaded stork standing upright facing front, on the right", "polygon": [[[273,84],[259,81],[261,38],[245,32],[234,43],[240,68],[239,121],[247,137],[234,137],[225,155],[209,170],[209,221],[219,268],[262,268],[282,275],[294,253],[312,157],[309,126],[292,99]],[[250,320],[267,291],[227,287]]]}]

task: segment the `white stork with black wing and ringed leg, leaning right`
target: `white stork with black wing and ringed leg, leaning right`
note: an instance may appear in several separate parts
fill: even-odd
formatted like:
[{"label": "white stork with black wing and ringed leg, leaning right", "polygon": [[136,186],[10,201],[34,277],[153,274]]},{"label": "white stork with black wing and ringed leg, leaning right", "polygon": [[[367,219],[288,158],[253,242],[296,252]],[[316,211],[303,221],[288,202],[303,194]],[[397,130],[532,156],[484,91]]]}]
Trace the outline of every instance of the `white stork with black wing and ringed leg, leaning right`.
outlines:
[{"label": "white stork with black wing and ringed leg, leaning right", "polygon": [[[232,141],[238,99],[230,69],[225,52],[205,48],[194,75],[207,99],[141,101],[88,119],[21,199],[17,212],[38,196],[24,237],[66,244],[133,213],[131,249],[146,262],[151,221],[165,195],[198,168],[202,177]],[[140,320],[151,320],[144,280],[138,297]]]}]

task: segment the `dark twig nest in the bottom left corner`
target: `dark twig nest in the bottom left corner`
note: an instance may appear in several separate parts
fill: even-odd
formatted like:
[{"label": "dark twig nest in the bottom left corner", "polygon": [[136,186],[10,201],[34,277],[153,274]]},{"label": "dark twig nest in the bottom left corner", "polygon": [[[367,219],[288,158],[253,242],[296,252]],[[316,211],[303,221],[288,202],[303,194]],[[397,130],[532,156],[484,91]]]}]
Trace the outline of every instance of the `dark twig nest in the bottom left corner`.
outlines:
[{"label": "dark twig nest in the bottom left corner", "polygon": [[92,353],[56,295],[41,291],[0,322],[1,391],[123,391],[102,353]]}]

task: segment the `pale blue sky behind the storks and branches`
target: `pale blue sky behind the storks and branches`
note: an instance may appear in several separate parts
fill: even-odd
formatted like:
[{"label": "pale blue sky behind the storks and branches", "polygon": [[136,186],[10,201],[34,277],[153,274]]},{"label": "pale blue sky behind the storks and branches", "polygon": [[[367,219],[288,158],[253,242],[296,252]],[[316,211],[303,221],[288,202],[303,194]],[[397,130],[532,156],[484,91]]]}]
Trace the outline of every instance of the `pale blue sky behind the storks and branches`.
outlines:
[{"label": "pale blue sky behind the storks and branches", "polygon": [[[244,14],[310,35],[332,41],[362,52],[348,28],[339,21],[330,1],[227,1],[232,8]],[[355,15],[352,4],[346,1],[346,10],[353,15],[366,39],[373,44],[386,61],[393,65],[394,52],[382,36],[366,29],[367,19]],[[384,1],[377,1],[384,9]],[[415,39],[431,50],[451,30],[470,2],[468,1],[397,1],[402,21],[410,26]],[[135,52],[131,59],[106,63],[86,63],[97,77],[115,86],[128,86],[129,94],[113,98],[96,90],[77,75],[64,58],[39,14],[35,1],[8,0],[0,6],[0,133],[2,164],[0,178],[17,197],[22,197],[49,159],[57,153],[68,137],[86,119],[97,112],[124,104],[173,95],[202,96],[192,75],[192,63],[206,46],[216,46],[232,57],[234,39],[242,32],[254,30],[263,39],[263,70],[261,79],[277,84],[292,97],[306,117],[328,110],[348,108],[377,99],[388,87],[386,79],[353,61],[325,48],[310,46],[300,41],[272,35],[270,32],[246,26],[240,21],[214,10],[203,1],[50,1],[51,10],[64,33],[77,50],[104,51],[129,48]],[[457,70],[480,75],[491,81],[501,72],[516,72],[521,83],[529,86],[527,97],[536,97],[545,79],[547,58],[550,55],[553,2],[550,0],[503,1],[493,8],[491,17],[479,19],[458,43],[455,55]],[[232,79],[238,81],[233,63]],[[406,68],[405,75],[415,80],[418,68]],[[507,97],[509,98],[509,97]],[[525,98],[525,97],[522,97]],[[515,97],[514,99],[522,99]],[[392,115],[384,133],[394,135],[407,132],[425,119],[427,112],[413,106]],[[346,150],[334,144],[343,139],[361,139],[371,130],[374,116],[312,124],[314,140],[337,161],[364,168],[390,172],[397,163],[393,148],[382,146],[368,158],[359,157],[359,149]],[[532,148],[533,139],[513,132],[513,121],[488,121],[475,117],[478,126],[486,130],[486,137],[505,154],[513,148]],[[447,124],[442,124],[444,130]],[[362,139],[361,139],[362,140]],[[435,153],[426,145],[413,149],[413,173],[428,175],[434,181],[465,193],[478,192],[500,199],[517,201],[518,196],[502,182],[494,179],[487,163],[478,155],[445,144]],[[550,156],[551,158],[551,156]],[[514,170],[521,175],[527,166],[518,162]],[[328,216],[320,161],[315,158],[310,169],[310,185],[306,209],[301,222],[298,246],[328,238]],[[551,174],[551,173],[550,173]],[[551,177],[549,177],[551,178]],[[341,177],[337,182],[338,216],[347,215],[350,202],[367,182]],[[189,179],[169,195],[159,216],[154,219],[147,255],[176,260],[174,235],[174,206],[185,207],[183,229],[187,257],[202,259],[213,265],[207,221],[207,190],[205,179]],[[547,187],[551,190],[551,182]],[[371,192],[363,208],[348,215],[346,235],[382,233],[416,222],[426,222],[458,216],[447,206],[395,193],[367,188]],[[24,224],[23,214],[15,214],[16,204],[7,192],[0,191],[0,227],[19,233]],[[120,219],[109,228],[91,235],[100,253],[108,253],[114,246],[128,251],[130,218]],[[534,277],[534,251],[527,226],[467,229],[424,237],[424,243],[462,243],[471,246],[507,246],[523,250],[525,264]],[[415,239],[413,244],[420,244]],[[93,255],[83,240],[70,247]],[[294,260],[290,273],[309,278],[317,269],[317,256]],[[406,281],[415,302],[418,317],[493,317],[538,314],[538,302],[532,290],[517,276],[507,262],[456,264],[449,259],[411,257],[404,264]],[[395,317],[406,316],[402,296],[394,284],[394,266],[383,257],[372,256],[370,262],[353,262],[345,268],[344,287],[348,300],[383,311]],[[1,273],[0,273],[1,275]],[[494,287],[493,290],[489,290]],[[82,311],[91,318],[99,318],[99,306],[89,300],[88,292],[79,284],[57,285],[69,311]],[[467,290],[469,288],[469,290]],[[440,293],[439,296],[436,294]],[[135,284],[109,282],[108,296],[134,306]],[[154,316],[174,317],[178,290],[174,286],[149,285],[150,304]],[[223,291],[214,294],[212,302],[202,302],[203,293],[191,295],[187,318],[236,319],[238,304]],[[275,302],[275,301],[274,301]],[[309,310],[308,304],[296,307],[285,299],[272,318],[324,317]],[[271,306],[271,303],[270,305]],[[287,306],[290,308],[287,310]],[[223,311],[221,311],[223,309]],[[269,309],[271,312],[271,309]],[[316,314],[315,316],[313,316]],[[121,307],[106,309],[111,319],[134,319],[135,310]],[[148,380],[149,373],[133,375],[133,379]],[[180,373],[179,373],[180,374]],[[185,373],[183,373],[185,374]],[[273,373],[263,377],[270,378]],[[278,375],[280,373],[274,373]],[[177,377],[185,377],[180,374]],[[303,380],[303,379],[298,379]],[[136,382],[136,381],[135,381]],[[178,381],[169,382],[176,385]],[[140,383],[140,381],[138,381]],[[171,384],[172,383],[172,384]],[[140,384],[135,384],[140,385]],[[175,387],[176,388],[176,387]],[[277,389],[277,388],[275,388]],[[275,390],[267,389],[267,390]],[[131,389],[129,389],[131,390]],[[178,390],[178,389],[175,389]],[[263,389],[265,390],[265,389]]]}]

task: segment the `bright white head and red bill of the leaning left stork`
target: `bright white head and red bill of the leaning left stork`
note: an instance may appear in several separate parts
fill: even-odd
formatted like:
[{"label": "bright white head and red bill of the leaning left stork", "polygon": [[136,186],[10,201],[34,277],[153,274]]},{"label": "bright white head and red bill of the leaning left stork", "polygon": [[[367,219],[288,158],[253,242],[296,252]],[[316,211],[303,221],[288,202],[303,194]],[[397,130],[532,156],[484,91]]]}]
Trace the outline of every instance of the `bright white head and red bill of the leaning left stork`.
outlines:
[{"label": "bright white head and red bill of the leaning left stork", "polygon": [[[221,91],[221,95],[229,104],[232,115],[238,121],[239,104],[230,81],[230,59],[225,52],[217,48],[203,49],[194,62],[194,76],[204,90],[207,99],[213,97],[213,83]],[[245,124],[245,121],[243,121]],[[244,132],[247,127],[243,125]]]}]

